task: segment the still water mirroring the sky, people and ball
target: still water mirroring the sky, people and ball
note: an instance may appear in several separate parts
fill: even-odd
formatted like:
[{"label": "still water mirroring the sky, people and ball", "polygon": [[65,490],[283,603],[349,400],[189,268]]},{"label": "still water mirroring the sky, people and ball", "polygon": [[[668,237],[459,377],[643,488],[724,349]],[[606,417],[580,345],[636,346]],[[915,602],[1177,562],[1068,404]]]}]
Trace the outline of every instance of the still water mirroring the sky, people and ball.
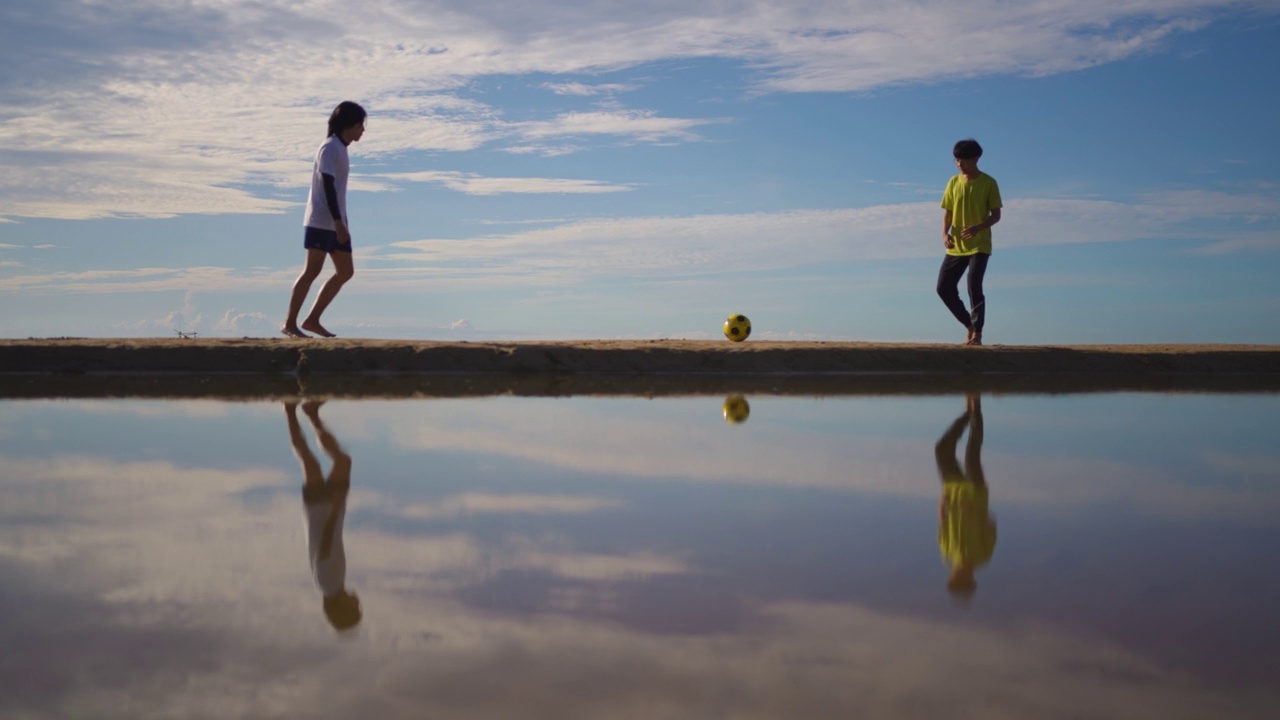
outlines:
[{"label": "still water mirroring the sky, people and ball", "polygon": [[1271,393],[0,401],[0,716],[1274,719],[1276,428]]}]

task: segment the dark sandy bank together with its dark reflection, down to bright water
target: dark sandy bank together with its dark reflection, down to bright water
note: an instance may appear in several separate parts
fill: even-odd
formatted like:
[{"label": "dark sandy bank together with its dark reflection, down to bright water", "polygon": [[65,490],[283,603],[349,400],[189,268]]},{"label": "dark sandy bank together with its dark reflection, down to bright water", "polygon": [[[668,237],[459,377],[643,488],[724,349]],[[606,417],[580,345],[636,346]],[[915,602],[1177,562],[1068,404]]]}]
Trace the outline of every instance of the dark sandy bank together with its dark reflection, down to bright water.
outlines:
[{"label": "dark sandy bank together with its dark reflection, down to bright water", "polygon": [[374,395],[1271,392],[1280,389],[1280,346],[0,340],[5,397],[169,392],[164,388],[260,396],[297,392],[300,378],[308,387]]}]

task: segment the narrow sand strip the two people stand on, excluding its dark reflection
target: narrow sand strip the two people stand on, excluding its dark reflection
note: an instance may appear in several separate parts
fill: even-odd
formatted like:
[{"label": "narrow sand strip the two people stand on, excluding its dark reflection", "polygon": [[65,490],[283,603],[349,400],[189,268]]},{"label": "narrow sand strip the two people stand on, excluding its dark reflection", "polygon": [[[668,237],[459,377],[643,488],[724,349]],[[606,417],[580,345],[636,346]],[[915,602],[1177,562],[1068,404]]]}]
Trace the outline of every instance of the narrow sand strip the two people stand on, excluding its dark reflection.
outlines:
[{"label": "narrow sand strip the two people stand on, excluding its dark reflection", "polygon": [[1280,374],[1280,346],[870,342],[4,340],[3,373],[1234,373]]}]

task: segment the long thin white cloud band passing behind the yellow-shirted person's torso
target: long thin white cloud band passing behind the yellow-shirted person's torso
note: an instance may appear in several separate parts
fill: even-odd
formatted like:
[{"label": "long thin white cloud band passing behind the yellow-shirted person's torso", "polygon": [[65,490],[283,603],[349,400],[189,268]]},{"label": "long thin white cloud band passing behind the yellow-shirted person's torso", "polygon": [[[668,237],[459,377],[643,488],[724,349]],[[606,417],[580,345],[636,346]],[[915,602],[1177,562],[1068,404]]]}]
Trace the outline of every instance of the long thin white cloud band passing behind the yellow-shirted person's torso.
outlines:
[{"label": "long thin white cloud band passing behind the yellow-shirted person's torso", "polygon": [[[1006,205],[996,247],[1199,240],[1194,223],[1280,220],[1276,196],[1184,202],[1028,199]],[[509,234],[393,243],[383,260],[416,261],[443,277],[499,274],[548,281],[567,275],[667,278],[781,270],[827,263],[931,258],[941,242],[936,202],[659,218],[593,219]],[[1252,233],[1253,229],[1240,232]],[[1216,242],[1224,242],[1222,229]]]}]

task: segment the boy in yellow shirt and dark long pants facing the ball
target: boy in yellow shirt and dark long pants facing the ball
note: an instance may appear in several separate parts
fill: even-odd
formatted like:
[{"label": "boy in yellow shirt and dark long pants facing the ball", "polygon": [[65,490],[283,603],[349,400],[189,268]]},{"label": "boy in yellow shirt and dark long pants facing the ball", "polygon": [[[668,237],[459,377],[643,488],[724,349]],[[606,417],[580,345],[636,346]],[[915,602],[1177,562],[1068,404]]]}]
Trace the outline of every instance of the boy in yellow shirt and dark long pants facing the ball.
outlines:
[{"label": "boy in yellow shirt and dark long pants facing the ball", "polygon": [[[938,297],[956,320],[969,329],[965,345],[982,345],[987,318],[987,297],[982,279],[991,259],[991,225],[1000,222],[1000,186],[996,178],[978,169],[982,146],[977,140],[961,140],[951,154],[960,173],[947,182],[942,193],[942,246],[947,255],[938,270]],[[960,300],[960,278],[969,272],[969,310]]]}]

